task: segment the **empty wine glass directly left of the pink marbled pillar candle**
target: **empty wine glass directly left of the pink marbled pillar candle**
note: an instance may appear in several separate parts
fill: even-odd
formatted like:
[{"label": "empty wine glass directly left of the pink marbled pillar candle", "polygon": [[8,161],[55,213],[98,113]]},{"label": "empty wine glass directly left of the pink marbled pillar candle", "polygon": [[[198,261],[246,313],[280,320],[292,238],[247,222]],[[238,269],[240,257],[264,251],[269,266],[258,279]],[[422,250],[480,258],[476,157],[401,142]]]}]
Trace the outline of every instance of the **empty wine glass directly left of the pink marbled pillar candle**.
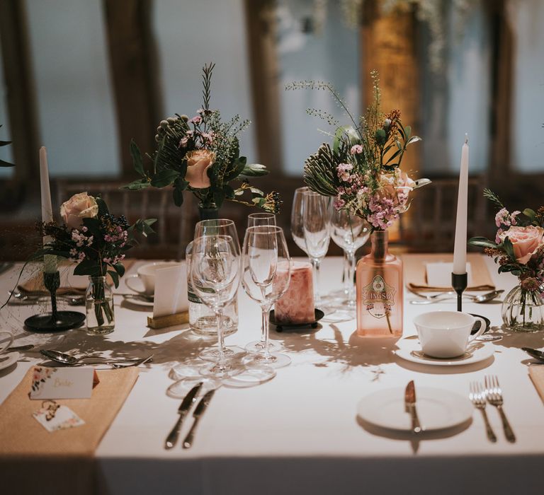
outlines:
[{"label": "empty wine glass directly left of the pink marbled pillar candle", "polygon": [[291,262],[283,230],[276,226],[249,227],[242,249],[242,286],[247,295],[259,303],[262,313],[264,348],[253,357],[244,359],[246,365],[268,364],[273,368],[287,366],[291,359],[269,348],[269,313],[290,281]]}]

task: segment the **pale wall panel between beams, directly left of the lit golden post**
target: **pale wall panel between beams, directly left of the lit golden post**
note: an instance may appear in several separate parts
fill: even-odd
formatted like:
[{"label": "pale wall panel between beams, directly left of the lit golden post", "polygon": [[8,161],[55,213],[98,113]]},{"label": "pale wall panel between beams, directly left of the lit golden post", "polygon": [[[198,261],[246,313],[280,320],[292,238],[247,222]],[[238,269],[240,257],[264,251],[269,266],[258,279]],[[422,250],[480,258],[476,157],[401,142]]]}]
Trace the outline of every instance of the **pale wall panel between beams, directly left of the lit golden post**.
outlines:
[{"label": "pale wall panel between beams, directly left of the lit golden post", "polygon": [[328,92],[285,91],[285,84],[314,80],[332,83],[344,97],[354,116],[360,115],[358,74],[358,31],[347,28],[337,2],[327,3],[327,20],[322,33],[302,33],[300,22],[311,15],[311,0],[278,1],[279,91],[283,169],[288,175],[302,175],[304,161],[324,141],[331,141],[317,129],[334,133],[327,122],[310,117],[308,107],[331,112],[341,125],[350,124]]}]

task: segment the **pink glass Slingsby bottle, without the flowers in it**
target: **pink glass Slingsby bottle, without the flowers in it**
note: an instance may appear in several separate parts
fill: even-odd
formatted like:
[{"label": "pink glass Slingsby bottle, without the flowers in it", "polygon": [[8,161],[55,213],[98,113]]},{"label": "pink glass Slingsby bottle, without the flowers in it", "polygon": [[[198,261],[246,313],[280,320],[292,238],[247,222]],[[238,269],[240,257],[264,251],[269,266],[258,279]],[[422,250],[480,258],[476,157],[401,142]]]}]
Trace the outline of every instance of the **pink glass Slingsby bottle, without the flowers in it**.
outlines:
[{"label": "pink glass Slingsby bottle, without the flowers in it", "polygon": [[357,334],[402,335],[402,261],[387,252],[387,231],[372,233],[372,251],[357,264]]}]

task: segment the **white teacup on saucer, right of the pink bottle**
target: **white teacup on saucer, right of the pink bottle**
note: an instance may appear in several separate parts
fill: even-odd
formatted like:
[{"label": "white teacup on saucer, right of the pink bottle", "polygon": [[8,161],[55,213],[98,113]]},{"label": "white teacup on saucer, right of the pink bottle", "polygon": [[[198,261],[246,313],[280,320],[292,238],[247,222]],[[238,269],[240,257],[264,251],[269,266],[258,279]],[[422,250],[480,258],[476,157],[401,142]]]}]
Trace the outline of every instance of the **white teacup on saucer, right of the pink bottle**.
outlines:
[{"label": "white teacup on saucer, right of the pink bottle", "polygon": [[[470,334],[472,327],[480,320],[480,330]],[[462,356],[467,345],[485,332],[485,321],[459,311],[431,311],[414,318],[421,350],[435,358]]]}]

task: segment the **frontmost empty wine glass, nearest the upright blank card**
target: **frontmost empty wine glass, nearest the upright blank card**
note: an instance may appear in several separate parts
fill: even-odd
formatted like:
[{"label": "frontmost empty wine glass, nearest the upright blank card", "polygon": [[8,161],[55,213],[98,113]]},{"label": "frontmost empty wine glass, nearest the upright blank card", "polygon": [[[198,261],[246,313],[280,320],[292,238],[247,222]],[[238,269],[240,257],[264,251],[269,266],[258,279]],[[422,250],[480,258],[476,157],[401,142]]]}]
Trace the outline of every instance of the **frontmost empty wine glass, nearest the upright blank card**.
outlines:
[{"label": "frontmost empty wine glass, nearest the upright blank card", "polygon": [[228,378],[242,369],[227,361],[223,343],[223,310],[237,296],[240,258],[230,235],[203,235],[193,240],[191,285],[200,300],[217,318],[217,360],[200,369],[203,375]]}]

